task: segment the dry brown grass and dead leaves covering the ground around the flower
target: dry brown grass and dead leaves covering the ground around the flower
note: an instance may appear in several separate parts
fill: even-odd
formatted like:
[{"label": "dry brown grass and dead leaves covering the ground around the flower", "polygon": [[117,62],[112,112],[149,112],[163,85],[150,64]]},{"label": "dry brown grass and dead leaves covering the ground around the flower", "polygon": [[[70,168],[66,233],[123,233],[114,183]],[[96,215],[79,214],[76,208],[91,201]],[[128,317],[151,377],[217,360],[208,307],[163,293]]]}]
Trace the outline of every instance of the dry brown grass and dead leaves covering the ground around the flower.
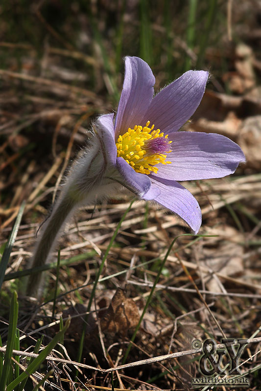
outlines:
[{"label": "dry brown grass and dead leaves covering the ground around the flower", "polygon": [[[254,23],[257,2],[245,3]],[[93,4],[95,15],[95,6],[99,4],[95,1]],[[106,1],[103,7],[103,17],[108,17],[114,10]],[[225,12],[223,9],[220,12]],[[48,369],[54,369],[45,390],[111,390],[109,374],[112,370],[115,390],[190,390],[191,379],[199,375],[201,351],[191,350],[192,341],[214,338],[220,343],[224,336],[252,340],[241,356],[240,369],[250,381],[249,389],[260,389],[261,100],[258,80],[261,53],[255,38],[260,29],[254,24],[256,35],[249,33],[251,21],[242,22],[244,9],[243,5],[234,9],[235,20],[232,26],[229,22],[229,31],[231,34],[232,28],[246,47],[242,49],[236,43],[229,43],[226,28],[222,30],[222,44],[206,47],[203,65],[213,66],[213,77],[188,129],[229,136],[243,148],[247,163],[240,165],[231,177],[184,183],[201,206],[200,234],[206,237],[177,239],[125,364],[122,359],[161,261],[172,239],[189,230],[179,218],[153,203],[137,201],[133,204],[100,276],[84,337],[84,361],[77,364],[77,350],[95,274],[128,199],[117,195],[108,203],[96,205],[95,210],[88,207],[77,213],[59,241],[59,275],[52,265],[43,302],[36,303],[20,296],[21,352],[16,354],[21,355],[24,367],[27,361],[22,357],[32,357],[32,347],[39,335],[45,336],[43,345],[47,345],[59,329],[60,316],[64,319],[71,316],[64,344],[56,347],[47,358],[46,366],[34,374],[39,380]],[[119,22],[122,10],[118,11]],[[184,17],[186,9],[181,7],[179,11]],[[0,246],[12,230],[22,201],[26,201],[1,291],[0,335],[3,341],[7,335],[10,292],[21,288],[23,283],[22,279],[14,279],[15,275],[11,273],[19,276],[26,268],[36,230],[48,216],[71,159],[86,143],[86,129],[90,129],[97,113],[110,112],[117,107],[115,86],[121,86],[116,55],[104,58],[100,41],[95,41],[97,37],[93,51],[87,50],[87,55],[65,39],[61,30],[52,27],[47,20],[48,13],[44,17],[41,7],[31,12],[33,18],[42,23],[41,31],[45,34],[47,31],[49,36],[41,54],[30,42],[6,40],[0,43],[6,65],[0,68]],[[75,12],[81,14],[79,10]],[[122,12],[128,19],[137,10],[134,7]],[[224,13],[221,15],[226,17]],[[71,22],[70,17],[67,21]],[[244,28],[240,30],[240,26]],[[101,17],[97,31],[104,32],[106,27],[110,32],[108,20]],[[162,37],[169,38],[160,17],[151,28],[156,42]],[[36,29],[37,33],[39,31]],[[89,31],[88,28],[87,38]],[[130,31],[128,25],[126,36]],[[194,50],[188,48],[182,26],[179,33],[173,48],[176,50],[174,59],[180,66],[176,73],[182,68],[184,51],[190,57],[192,68],[198,53],[196,46],[192,48]],[[215,39],[217,32],[212,34]],[[103,37],[102,42],[110,53],[110,37]],[[56,47],[58,45],[62,48]],[[127,53],[124,47],[122,54]],[[165,54],[167,52],[158,65],[154,62],[158,87],[164,85],[170,75],[166,71]],[[108,59],[109,65],[106,65]],[[225,69],[221,66],[223,60]],[[228,89],[230,94],[226,93]],[[53,318],[57,278],[58,295]],[[24,353],[25,348],[28,353]],[[76,367],[78,379],[75,383]]]}]

